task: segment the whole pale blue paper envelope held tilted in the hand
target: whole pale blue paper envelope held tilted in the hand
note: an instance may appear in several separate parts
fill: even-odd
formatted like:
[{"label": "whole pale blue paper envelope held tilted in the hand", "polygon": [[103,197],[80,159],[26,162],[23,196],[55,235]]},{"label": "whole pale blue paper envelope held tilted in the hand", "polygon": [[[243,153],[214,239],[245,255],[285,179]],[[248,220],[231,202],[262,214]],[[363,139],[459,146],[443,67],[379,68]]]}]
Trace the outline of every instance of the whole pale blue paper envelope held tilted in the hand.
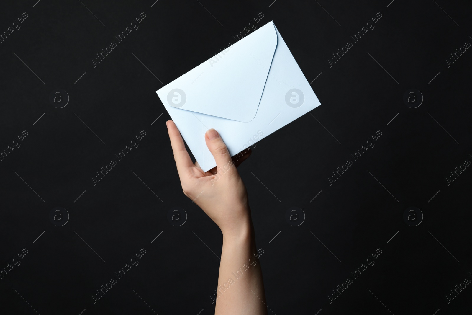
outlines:
[{"label": "whole pale blue paper envelope held tilted in the hand", "polygon": [[204,171],[208,129],[234,156],[320,105],[272,21],[156,93]]}]

